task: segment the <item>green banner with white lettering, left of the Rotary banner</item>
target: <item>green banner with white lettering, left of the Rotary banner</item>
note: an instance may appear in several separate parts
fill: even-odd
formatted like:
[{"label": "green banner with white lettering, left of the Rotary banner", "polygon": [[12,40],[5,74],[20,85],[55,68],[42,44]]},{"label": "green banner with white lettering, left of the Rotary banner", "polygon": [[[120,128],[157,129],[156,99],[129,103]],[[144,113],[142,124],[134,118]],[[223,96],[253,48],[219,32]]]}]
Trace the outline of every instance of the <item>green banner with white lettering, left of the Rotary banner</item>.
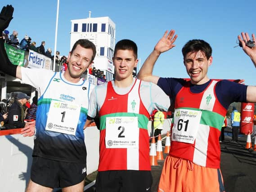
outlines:
[{"label": "green banner with white lettering, left of the Rotary banner", "polygon": [[4,44],[6,54],[13,65],[24,66],[25,51],[17,49],[12,45]]}]

